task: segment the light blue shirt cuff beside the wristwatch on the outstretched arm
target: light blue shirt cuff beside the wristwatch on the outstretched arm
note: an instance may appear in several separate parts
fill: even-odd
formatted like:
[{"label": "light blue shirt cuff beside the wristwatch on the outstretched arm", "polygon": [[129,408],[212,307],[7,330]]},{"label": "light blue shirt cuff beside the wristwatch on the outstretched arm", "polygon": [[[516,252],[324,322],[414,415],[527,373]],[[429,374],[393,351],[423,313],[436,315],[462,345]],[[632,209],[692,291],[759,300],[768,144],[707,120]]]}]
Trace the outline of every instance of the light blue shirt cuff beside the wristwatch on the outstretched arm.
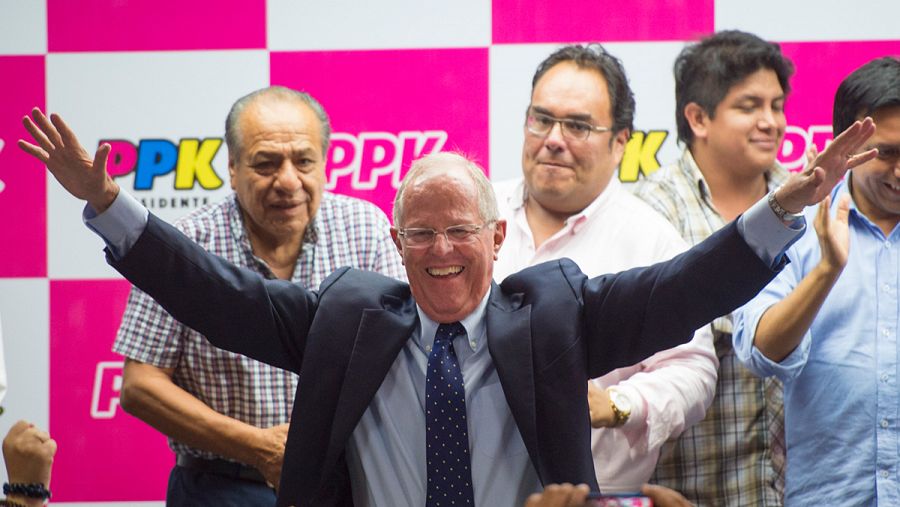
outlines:
[{"label": "light blue shirt cuff beside the wristwatch on the outstretched arm", "polygon": [[786,225],[764,197],[738,217],[737,227],[753,252],[767,265],[777,268],[788,247],[800,239],[806,230],[806,219]]}]

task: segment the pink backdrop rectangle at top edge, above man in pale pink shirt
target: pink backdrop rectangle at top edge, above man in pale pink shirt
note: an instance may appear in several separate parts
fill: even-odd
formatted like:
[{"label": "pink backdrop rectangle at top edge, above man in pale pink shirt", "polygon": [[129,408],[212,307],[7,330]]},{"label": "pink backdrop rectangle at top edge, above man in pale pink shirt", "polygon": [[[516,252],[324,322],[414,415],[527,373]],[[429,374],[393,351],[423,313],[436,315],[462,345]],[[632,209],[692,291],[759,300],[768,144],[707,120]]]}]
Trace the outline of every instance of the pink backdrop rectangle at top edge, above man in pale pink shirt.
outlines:
[{"label": "pink backdrop rectangle at top edge, above man in pale pink shirt", "polygon": [[492,24],[494,44],[694,40],[714,30],[713,0],[493,0]]}]

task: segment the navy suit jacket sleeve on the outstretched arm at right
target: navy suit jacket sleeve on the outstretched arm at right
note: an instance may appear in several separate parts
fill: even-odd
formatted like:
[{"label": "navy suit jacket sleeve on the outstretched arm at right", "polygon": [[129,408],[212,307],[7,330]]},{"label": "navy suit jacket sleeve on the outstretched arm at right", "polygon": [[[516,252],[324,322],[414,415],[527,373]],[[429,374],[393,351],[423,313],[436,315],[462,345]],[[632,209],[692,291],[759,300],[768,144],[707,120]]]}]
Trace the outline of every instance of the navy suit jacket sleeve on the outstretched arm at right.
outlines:
[{"label": "navy suit jacket sleeve on the outstretched arm at right", "polygon": [[688,341],[750,300],[779,269],[760,260],[732,223],[649,267],[589,279],[561,259],[514,274],[501,287],[531,306],[532,333],[546,338],[535,345],[535,356],[547,358],[539,371],[577,357],[595,378]]}]

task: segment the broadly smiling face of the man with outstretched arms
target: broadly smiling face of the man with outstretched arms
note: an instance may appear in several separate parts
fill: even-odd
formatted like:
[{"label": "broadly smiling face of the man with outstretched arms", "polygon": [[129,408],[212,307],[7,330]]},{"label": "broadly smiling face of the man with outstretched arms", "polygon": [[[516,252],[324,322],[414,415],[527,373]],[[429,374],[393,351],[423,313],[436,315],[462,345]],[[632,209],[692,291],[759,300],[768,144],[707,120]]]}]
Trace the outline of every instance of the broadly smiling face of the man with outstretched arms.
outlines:
[{"label": "broadly smiling face of the man with outstretched arms", "polygon": [[[477,190],[461,164],[430,168],[416,175],[404,190],[399,228],[443,231],[460,224],[484,224],[478,209]],[[474,236],[451,243],[437,234],[434,243],[410,247],[398,234],[391,235],[409,278],[416,303],[429,318],[440,323],[459,321],[472,313],[491,286],[494,260],[506,224],[486,225]]]}]

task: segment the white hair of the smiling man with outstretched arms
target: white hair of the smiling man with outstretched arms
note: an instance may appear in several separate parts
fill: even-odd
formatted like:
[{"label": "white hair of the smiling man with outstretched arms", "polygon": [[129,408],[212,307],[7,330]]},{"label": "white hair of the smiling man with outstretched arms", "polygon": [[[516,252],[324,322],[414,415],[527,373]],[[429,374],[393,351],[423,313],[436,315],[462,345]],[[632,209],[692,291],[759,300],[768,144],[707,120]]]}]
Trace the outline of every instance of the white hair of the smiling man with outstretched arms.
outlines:
[{"label": "white hair of the smiling man with outstretched arms", "polygon": [[403,196],[407,187],[430,170],[453,165],[463,167],[475,183],[478,213],[481,215],[481,219],[487,223],[496,221],[500,217],[500,211],[497,209],[497,197],[494,195],[494,187],[488,181],[487,176],[484,175],[484,170],[481,166],[460,153],[442,151],[425,155],[410,166],[409,172],[406,173],[400,188],[397,190],[397,195],[394,197],[394,225],[400,226],[403,223]]}]

